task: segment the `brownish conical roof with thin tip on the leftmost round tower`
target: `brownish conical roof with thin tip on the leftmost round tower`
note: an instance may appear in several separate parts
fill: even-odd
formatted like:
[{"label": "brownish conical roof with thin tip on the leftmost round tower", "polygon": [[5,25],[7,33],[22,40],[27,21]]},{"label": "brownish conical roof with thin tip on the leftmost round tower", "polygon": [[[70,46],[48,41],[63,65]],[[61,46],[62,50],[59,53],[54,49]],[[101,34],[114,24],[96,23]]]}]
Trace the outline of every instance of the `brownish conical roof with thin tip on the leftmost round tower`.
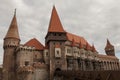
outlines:
[{"label": "brownish conical roof with thin tip on the leftmost round tower", "polygon": [[19,32],[18,32],[18,26],[17,26],[17,19],[16,19],[16,9],[14,11],[13,19],[11,21],[10,27],[4,39],[6,38],[20,39]]}]

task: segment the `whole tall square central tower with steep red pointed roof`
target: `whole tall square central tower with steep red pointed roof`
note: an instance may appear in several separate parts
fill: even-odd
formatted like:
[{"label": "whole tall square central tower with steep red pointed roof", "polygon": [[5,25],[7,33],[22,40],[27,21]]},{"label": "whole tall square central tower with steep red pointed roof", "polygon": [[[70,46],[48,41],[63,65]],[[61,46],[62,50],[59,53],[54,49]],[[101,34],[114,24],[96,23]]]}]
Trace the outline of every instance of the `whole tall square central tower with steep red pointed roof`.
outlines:
[{"label": "whole tall square central tower with steep red pointed roof", "polygon": [[65,65],[65,49],[63,48],[65,41],[66,31],[63,28],[55,6],[53,6],[48,33],[45,37],[46,45],[49,47],[50,80],[53,80],[52,76],[55,70],[65,68],[65,66],[63,66]]}]

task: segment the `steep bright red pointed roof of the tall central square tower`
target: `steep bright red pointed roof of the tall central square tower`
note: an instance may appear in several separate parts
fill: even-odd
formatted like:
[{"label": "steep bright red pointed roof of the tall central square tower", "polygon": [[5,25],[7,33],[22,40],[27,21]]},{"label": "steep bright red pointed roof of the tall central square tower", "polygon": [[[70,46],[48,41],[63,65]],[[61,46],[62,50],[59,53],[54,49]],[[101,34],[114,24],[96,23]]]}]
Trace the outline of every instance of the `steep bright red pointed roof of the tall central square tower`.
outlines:
[{"label": "steep bright red pointed roof of the tall central square tower", "polygon": [[65,32],[57,14],[55,6],[53,6],[48,32]]}]

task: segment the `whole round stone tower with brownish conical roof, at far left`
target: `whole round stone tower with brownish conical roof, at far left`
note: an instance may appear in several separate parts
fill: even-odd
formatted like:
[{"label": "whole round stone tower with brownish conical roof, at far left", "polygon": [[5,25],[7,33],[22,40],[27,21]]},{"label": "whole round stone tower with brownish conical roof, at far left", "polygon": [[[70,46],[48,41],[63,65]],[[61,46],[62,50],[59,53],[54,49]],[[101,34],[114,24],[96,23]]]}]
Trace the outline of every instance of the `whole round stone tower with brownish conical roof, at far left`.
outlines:
[{"label": "whole round stone tower with brownish conical roof, at far left", "polygon": [[4,60],[3,60],[3,80],[15,79],[15,49],[20,43],[18,32],[16,10],[9,26],[8,32],[4,38]]}]

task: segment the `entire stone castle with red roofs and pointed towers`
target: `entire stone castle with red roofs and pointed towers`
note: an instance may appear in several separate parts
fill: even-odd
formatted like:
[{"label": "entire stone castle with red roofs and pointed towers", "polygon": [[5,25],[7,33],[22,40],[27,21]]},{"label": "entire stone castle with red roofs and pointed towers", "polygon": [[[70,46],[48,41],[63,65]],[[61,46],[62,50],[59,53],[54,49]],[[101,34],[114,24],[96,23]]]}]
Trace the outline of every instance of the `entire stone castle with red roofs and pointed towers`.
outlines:
[{"label": "entire stone castle with red roofs and pointed towers", "polygon": [[33,38],[20,44],[16,13],[4,38],[3,80],[60,80],[55,72],[119,70],[114,46],[107,39],[106,55],[83,37],[64,30],[55,6],[45,36],[45,46]]}]

